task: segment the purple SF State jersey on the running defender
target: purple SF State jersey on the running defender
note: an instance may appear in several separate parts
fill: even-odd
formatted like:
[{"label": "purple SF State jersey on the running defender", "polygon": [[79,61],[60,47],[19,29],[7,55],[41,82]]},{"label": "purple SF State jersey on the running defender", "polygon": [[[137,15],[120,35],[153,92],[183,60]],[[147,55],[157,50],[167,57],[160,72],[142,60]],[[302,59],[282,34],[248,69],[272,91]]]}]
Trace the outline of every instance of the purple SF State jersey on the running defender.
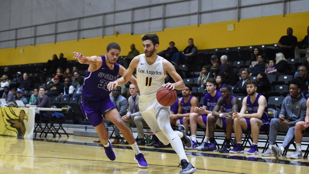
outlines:
[{"label": "purple SF State jersey on the running defender", "polygon": [[93,72],[86,72],[83,84],[83,98],[91,101],[98,101],[109,97],[111,91],[108,91],[107,85],[115,81],[119,73],[119,64],[114,64],[114,70],[110,70],[105,63],[105,56],[102,58],[102,66]]}]

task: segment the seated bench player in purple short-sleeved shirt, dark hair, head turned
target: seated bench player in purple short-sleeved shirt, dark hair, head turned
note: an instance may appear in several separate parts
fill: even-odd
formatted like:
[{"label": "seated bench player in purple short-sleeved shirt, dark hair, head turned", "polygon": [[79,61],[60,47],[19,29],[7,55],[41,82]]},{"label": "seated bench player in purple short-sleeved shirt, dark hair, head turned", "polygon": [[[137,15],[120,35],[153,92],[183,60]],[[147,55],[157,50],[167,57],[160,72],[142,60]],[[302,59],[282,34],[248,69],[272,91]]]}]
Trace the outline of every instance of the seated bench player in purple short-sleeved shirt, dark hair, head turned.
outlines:
[{"label": "seated bench player in purple short-sleeved shirt, dark hair, head turned", "polygon": [[[208,78],[206,80],[207,94],[204,96],[203,107],[195,107],[194,112],[190,113],[190,132],[192,138],[192,146],[194,149],[202,150],[202,148],[208,146],[209,133],[207,127],[207,115],[211,115],[214,107],[217,105],[218,99],[221,97],[221,92],[217,89],[217,83],[214,78]],[[201,127],[206,127],[205,138],[200,146],[197,146],[196,132],[197,124]],[[191,149],[193,149],[191,148]]]}]

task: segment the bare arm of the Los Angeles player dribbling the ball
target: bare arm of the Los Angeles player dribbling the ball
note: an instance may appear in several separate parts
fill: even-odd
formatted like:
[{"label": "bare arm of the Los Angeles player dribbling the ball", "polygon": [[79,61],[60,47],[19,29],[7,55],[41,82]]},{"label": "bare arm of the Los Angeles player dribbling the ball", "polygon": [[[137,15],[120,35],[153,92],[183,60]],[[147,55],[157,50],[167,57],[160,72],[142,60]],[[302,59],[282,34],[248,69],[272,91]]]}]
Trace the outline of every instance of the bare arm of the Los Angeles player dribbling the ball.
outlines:
[{"label": "bare arm of the Los Angeles player dribbling the ball", "polygon": [[174,79],[175,83],[167,83],[162,85],[162,87],[169,87],[170,89],[184,89],[184,80],[181,79],[180,75],[176,72],[175,67],[166,59],[163,59],[163,70],[164,73],[167,72]]}]

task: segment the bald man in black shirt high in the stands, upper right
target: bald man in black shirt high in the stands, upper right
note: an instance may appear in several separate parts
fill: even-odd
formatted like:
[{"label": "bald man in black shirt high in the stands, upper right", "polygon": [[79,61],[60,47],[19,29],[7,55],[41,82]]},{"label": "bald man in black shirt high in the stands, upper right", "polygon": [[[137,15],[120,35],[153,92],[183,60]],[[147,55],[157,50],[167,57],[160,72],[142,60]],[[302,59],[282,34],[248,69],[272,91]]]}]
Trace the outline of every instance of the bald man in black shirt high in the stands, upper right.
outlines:
[{"label": "bald man in black shirt high in the stands, upper right", "polygon": [[277,46],[279,47],[279,52],[283,53],[285,57],[293,58],[297,37],[293,36],[293,29],[291,27],[286,29],[286,34],[286,36],[280,38]]}]

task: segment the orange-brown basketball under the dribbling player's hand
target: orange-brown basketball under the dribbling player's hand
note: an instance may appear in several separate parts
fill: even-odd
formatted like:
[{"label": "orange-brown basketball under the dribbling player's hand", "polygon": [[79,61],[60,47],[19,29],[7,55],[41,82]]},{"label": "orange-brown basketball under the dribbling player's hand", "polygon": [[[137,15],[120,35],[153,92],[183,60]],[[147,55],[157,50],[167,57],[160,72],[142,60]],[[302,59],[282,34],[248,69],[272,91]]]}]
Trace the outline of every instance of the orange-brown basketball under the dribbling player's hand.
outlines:
[{"label": "orange-brown basketball under the dribbling player's hand", "polygon": [[162,106],[171,106],[175,103],[177,93],[175,90],[169,89],[169,87],[161,87],[157,91],[157,100]]}]

